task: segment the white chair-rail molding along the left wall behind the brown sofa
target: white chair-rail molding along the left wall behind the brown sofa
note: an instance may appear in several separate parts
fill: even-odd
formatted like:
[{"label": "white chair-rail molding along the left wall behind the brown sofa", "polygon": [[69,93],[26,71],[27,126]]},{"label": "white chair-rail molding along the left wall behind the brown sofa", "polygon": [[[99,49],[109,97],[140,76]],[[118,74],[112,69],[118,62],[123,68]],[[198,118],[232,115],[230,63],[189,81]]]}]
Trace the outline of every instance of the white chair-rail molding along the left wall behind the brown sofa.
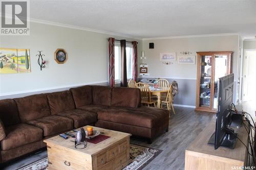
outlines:
[{"label": "white chair-rail molding along the left wall behind the brown sofa", "polygon": [[0,94],[0,99],[13,99],[13,98],[22,98],[24,96],[32,95],[32,94],[40,94],[40,93],[49,93],[55,91],[62,91],[68,90],[73,87],[84,86],[84,85],[92,85],[92,84],[106,84],[108,81],[98,81],[98,82],[87,82],[81,84],[73,84],[73,85],[66,85],[66,86],[57,86],[57,87],[49,87],[49,88],[40,88],[34,90],[26,90],[26,91],[17,91],[17,92],[10,92],[10,93],[2,93]]}]

